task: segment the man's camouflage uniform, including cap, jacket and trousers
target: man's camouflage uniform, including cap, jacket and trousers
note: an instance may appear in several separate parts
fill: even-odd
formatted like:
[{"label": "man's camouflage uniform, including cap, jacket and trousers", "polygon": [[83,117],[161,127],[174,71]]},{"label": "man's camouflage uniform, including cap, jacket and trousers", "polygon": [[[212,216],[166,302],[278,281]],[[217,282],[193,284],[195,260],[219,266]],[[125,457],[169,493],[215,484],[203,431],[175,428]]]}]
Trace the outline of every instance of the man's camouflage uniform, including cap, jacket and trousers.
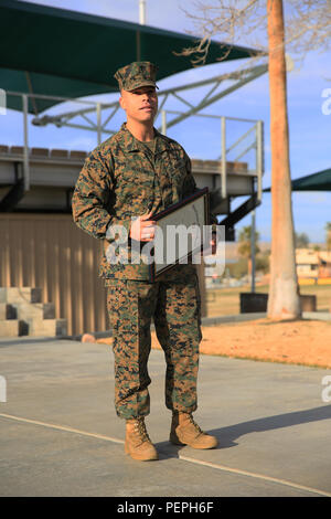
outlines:
[{"label": "man's camouflage uniform, including cap, jacket and trousers", "polygon": [[[115,77],[120,89],[156,87],[157,67],[136,62]],[[181,264],[149,282],[149,266],[109,263],[109,230],[122,225],[129,234],[131,219],[156,214],[196,190],[191,161],[174,140],[153,128],[151,144],[138,140],[127,128],[95,148],[85,161],[73,194],[76,224],[104,240],[99,276],[107,286],[107,307],[114,330],[115,406],[129,420],[150,411],[148,358],[153,320],[167,361],[166,405],[173,412],[196,409],[200,294],[195,266]],[[108,232],[107,232],[108,231]],[[132,241],[129,241],[132,245]]]}]

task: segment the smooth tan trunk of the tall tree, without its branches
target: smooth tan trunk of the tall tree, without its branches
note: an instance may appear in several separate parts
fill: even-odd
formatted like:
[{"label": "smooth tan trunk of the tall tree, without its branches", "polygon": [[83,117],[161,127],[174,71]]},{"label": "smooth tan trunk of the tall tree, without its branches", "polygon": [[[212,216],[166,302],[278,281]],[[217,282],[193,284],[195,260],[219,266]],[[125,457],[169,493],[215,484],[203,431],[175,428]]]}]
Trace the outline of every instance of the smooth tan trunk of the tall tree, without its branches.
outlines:
[{"label": "smooth tan trunk of the tall tree, without its branches", "polygon": [[301,316],[291,206],[282,0],[268,0],[271,135],[271,256],[268,317]]}]

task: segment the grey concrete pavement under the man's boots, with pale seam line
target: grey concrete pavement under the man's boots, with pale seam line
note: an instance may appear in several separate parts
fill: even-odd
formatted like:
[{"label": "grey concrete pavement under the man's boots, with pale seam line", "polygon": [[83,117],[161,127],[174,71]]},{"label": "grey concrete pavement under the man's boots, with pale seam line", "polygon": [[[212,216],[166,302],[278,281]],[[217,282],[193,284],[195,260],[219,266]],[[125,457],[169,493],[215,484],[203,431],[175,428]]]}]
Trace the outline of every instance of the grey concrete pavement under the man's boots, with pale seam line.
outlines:
[{"label": "grey concrete pavement under the man's boots, with pale seam line", "polygon": [[135,462],[109,346],[2,338],[0,495],[331,497],[331,370],[202,356],[194,419],[220,441],[205,452],[168,442],[164,371],[152,350],[147,425],[160,459]]}]

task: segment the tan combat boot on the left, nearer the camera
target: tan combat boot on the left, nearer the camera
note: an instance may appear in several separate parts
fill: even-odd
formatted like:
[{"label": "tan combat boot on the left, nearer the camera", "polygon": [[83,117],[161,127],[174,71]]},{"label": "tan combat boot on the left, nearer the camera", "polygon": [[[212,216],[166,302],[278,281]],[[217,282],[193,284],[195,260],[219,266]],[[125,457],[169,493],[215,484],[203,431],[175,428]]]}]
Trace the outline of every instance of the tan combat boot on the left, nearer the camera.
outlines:
[{"label": "tan combat boot on the left, nearer the camera", "polygon": [[159,459],[157,449],[147,434],[143,416],[127,420],[125,452],[140,462]]}]

